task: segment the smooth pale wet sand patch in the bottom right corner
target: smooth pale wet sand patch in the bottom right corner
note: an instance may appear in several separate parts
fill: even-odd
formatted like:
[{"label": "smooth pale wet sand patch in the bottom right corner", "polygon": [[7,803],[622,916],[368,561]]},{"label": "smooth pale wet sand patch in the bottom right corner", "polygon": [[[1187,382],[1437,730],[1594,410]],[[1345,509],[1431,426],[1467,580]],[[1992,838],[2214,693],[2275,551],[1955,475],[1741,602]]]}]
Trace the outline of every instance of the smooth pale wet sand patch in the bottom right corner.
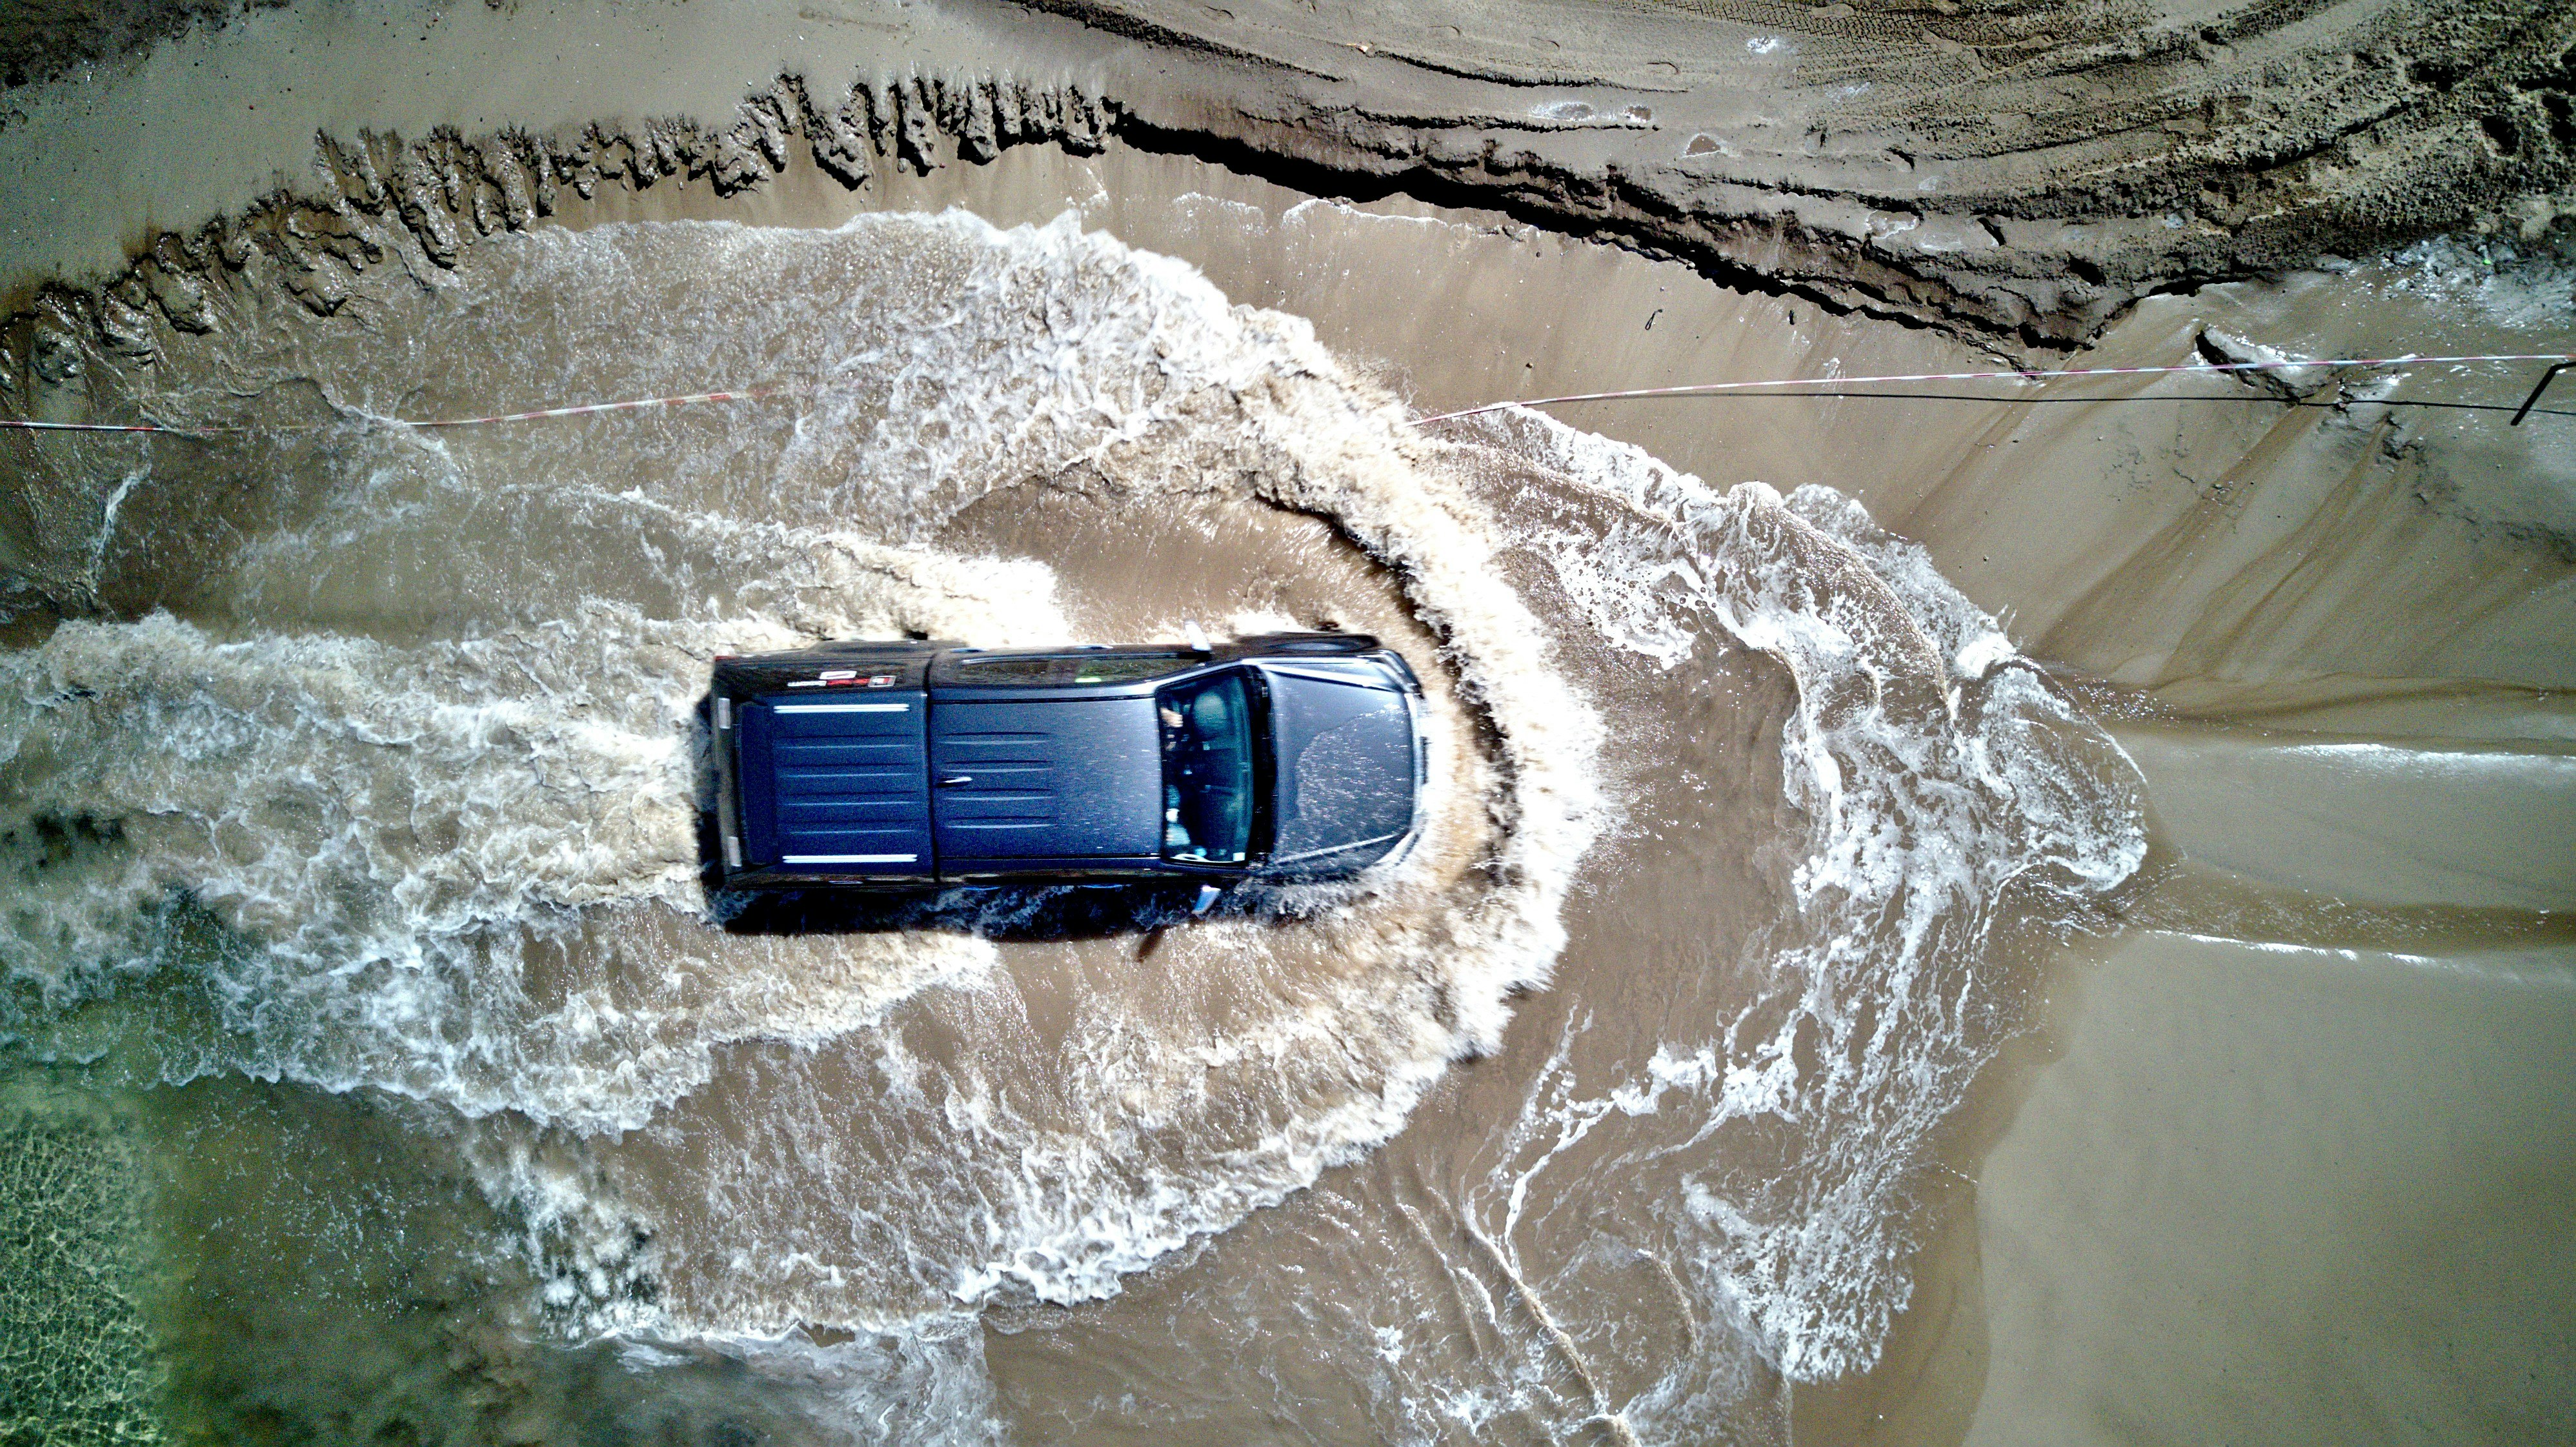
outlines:
[{"label": "smooth pale wet sand patch in the bottom right corner", "polygon": [[2146,932],[1978,1169],[1968,1442],[2548,1442],[2576,950]]}]

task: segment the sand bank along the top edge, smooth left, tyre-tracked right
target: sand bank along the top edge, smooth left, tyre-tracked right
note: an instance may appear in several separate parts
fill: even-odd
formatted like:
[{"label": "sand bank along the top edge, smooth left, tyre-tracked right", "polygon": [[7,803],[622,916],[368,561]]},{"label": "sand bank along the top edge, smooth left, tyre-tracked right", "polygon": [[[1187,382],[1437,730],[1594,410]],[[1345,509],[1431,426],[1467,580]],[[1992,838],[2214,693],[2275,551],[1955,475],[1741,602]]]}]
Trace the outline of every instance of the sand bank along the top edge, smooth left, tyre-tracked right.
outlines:
[{"label": "sand bank along the top edge, smooth left, tyre-tracked right", "polygon": [[[451,216],[404,211],[438,232],[541,214],[544,173],[574,180],[590,124],[608,126],[595,149],[626,152],[605,170],[739,188],[788,139],[845,173],[873,165],[853,131],[914,162],[1054,139],[1028,98],[1079,90],[1100,116],[1077,131],[2063,345],[2174,286],[2437,229],[2543,239],[2576,180],[2568,54],[2576,31],[2543,0],[2117,18],[1515,3],[1471,26],[1267,0],[291,8],[15,88],[0,278],[90,278],[278,188],[332,214],[374,203],[314,134],[371,131],[397,185],[425,167]],[[853,80],[871,93],[855,108]]]}]

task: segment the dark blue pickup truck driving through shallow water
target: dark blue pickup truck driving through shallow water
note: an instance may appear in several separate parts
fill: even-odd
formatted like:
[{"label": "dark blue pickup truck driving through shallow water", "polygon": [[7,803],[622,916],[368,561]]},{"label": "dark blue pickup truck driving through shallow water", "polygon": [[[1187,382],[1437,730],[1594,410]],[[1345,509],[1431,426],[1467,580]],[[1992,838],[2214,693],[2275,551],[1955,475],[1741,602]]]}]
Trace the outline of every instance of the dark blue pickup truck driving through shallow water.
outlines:
[{"label": "dark blue pickup truck driving through shallow water", "polygon": [[729,888],[1347,878],[1422,824],[1422,682],[1365,633],[716,659]]}]

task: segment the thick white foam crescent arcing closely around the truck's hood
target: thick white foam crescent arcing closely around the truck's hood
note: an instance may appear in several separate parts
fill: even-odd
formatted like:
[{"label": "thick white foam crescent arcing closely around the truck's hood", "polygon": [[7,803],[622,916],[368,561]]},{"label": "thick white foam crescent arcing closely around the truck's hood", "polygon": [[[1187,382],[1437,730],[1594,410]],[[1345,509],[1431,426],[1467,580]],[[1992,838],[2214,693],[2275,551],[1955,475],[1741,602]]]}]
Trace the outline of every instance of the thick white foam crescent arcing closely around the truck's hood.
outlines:
[{"label": "thick white foam crescent arcing closely around the truck's hood", "polygon": [[[829,469],[848,469],[853,487],[863,476],[876,497],[902,499],[907,523],[1023,476],[1082,469],[1113,489],[1206,492],[1218,487],[1211,476],[1231,474],[1252,497],[1334,518],[1401,572],[1494,721],[1507,765],[1481,801],[1507,824],[1492,845],[1504,888],[1432,896],[1425,870],[1440,850],[1427,850],[1419,868],[1386,881],[1394,904],[1316,922],[1368,971],[1213,1056],[1177,1056],[1144,1022],[1103,1020],[1066,1050],[1077,1079],[1061,1102],[1074,1120],[1038,1135],[1015,1117],[1015,1081],[956,1063],[951,1074],[896,1071],[925,1081],[922,1112],[1007,1146],[1010,1159],[997,1177],[969,1161],[971,1179],[956,1190],[979,1202],[984,1246],[933,1282],[956,1300],[1005,1290],[1084,1300],[1383,1141],[1450,1056],[1499,1040],[1504,994],[1543,981],[1564,940],[1564,888],[1592,832],[1597,724],[1553,677],[1543,628],[1499,582],[1492,520],[1414,466],[1425,443],[1388,399],[1350,386],[1301,322],[1234,309],[1180,263],[1069,224],[1002,234],[951,214],[935,227],[976,268],[933,324],[837,363],[884,378],[889,402],[827,402],[783,471],[837,492]],[[860,425],[866,448],[827,461],[822,440]],[[1255,924],[1213,924],[1203,937],[1211,950],[1267,950]],[[1229,1071],[1211,1081],[1218,1056]],[[1211,1120],[1236,1081],[1298,1105],[1255,1128]],[[1203,1141],[1200,1153],[1151,1161],[1154,1143],[1172,1138]]]}]

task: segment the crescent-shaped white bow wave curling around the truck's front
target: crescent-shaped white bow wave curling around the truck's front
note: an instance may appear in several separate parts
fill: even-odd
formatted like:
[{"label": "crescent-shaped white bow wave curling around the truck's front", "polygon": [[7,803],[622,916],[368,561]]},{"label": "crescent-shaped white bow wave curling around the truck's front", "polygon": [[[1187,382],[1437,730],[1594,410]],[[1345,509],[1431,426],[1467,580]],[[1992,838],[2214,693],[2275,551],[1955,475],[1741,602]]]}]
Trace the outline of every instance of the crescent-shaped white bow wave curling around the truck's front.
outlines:
[{"label": "crescent-shaped white bow wave curling around the truck's front", "polygon": [[[1499,739],[1492,778],[1458,744],[1445,749],[1448,778],[1473,798],[1448,801],[1445,837],[1381,881],[1373,904],[1291,901],[1321,911],[1291,953],[1355,968],[1291,986],[1321,994],[1229,1022],[1218,1043],[1175,1040],[1126,1014],[1084,1020],[1046,1061],[922,1061],[884,1032],[848,1043],[850,1069],[881,1081],[876,1120],[860,1133],[884,1135],[891,1179],[951,1213],[889,1200],[886,1182],[835,1197],[822,1236],[860,1218],[907,1256],[904,1282],[866,1290],[920,1311],[994,1295],[1092,1300],[1383,1141],[1453,1056],[1494,1048],[1507,991],[1543,981],[1564,942],[1561,901],[1597,808],[1597,721],[1548,667],[1546,631],[1499,582],[1494,523],[1417,466],[1425,443],[1401,412],[1355,389],[1301,322],[1234,309],[1180,263],[1082,237],[1069,221],[1005,234],[951,214],[845,229],[871,232],[961,247],[969,265],[917,324],[866,314],[866,340],[832,368],[871,381],[827,397],[799,425],[775,469],[788,507],[866,497],[889,525],[930,530],[1036,476],[1056,489],[1213,492],[1319,512],[1399,572]],[[1468,863],[1499,886],[1461,883]],[[1257,922],[1193,935],[1211,958],[1257,966],[1280,955]],[[1030,1102],[1023,1076],[1048,1071],[1061,1084]],[[768,1097],[806,1087],[788,1066]],[[768,1164],[701,1177],[693,1192],[793,1172],[806,1117],[762,1112],[755,1133]],[[1177,1141],[1188,1148],[1175,1159]],[[922,1182],[938,1184],[922,1192]],[[755,1321],[788,1303],[837,1318],[866,1298],[850,1272],[829,1267],[848,1251],[806,1226],[778,1223],[768,1264],[744,1262],[747,1277],[711,1287],[721,1298],[708,1300],[711,1321]]]}]

